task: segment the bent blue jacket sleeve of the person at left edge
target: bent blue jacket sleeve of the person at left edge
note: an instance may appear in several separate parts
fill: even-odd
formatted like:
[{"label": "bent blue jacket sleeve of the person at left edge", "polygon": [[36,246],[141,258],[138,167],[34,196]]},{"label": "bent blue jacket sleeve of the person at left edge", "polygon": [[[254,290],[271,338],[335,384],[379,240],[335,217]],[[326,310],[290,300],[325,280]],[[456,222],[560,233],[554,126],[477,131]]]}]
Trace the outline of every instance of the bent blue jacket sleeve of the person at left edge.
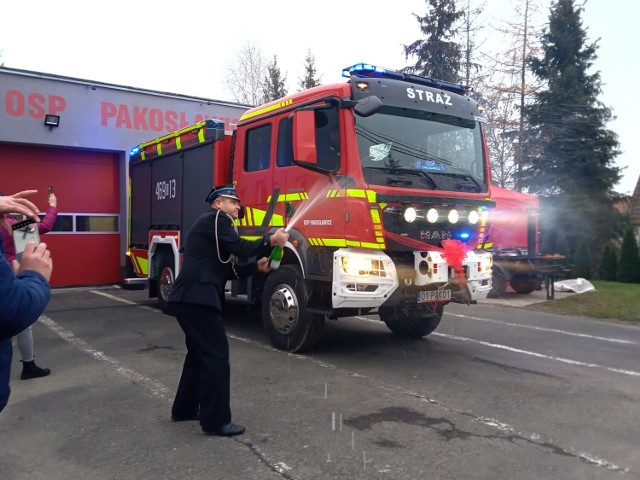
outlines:
[{"label": "bent blue jacket sleeve of the person at left edge", "polygon": [[18,276],[0,253],[0,340],[11,338],[35,322],[44,311],[51,287],[37,272]]}]

